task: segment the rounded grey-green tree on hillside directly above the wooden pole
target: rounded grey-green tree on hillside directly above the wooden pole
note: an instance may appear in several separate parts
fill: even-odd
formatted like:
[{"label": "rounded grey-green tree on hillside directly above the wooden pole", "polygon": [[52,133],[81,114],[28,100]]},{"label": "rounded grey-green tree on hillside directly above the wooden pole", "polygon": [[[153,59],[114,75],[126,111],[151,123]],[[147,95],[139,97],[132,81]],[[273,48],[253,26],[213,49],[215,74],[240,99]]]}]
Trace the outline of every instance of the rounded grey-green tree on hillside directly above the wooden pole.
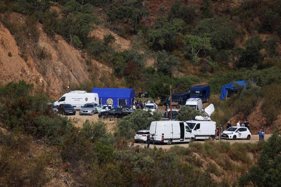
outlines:
[{"label": "rounded grey-green tree on hillside directly above the wooden pole", "polygon": [[154,63],[154,66],[157,68],[157,71],[172,76],[173,71],[177,70],[179,64],[179,59],[176,56],[168,56],[168,53],[163,50],[158,51],[157,61]]}]

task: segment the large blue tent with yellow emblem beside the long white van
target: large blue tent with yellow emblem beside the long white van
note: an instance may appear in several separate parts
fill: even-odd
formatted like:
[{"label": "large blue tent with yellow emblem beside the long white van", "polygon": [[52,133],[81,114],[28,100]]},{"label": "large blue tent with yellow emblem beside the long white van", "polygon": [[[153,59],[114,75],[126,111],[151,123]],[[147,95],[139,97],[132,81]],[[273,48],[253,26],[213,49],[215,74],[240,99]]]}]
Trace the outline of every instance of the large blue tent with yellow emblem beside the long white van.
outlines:
[{"label": "large blue tent with yellow emblem beside the long white van", "polygon": [[132,105],[132,99],[136,98],[134,89],[130,88],[93,88],[92,93],[99,95],[100,103],[105,105],[113,101],[113,106]]}]

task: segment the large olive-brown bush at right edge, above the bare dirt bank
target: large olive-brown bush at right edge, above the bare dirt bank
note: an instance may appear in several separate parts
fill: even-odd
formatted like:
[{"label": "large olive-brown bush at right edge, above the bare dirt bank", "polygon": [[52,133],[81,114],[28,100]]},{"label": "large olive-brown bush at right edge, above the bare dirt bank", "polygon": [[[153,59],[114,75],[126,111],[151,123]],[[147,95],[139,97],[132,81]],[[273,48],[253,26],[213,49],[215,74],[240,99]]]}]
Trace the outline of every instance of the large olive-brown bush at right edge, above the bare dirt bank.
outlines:
[{"label": "large olive-brown bush at right edge, above the bare dirt bank", "polygon": [[263,113],[266,116],[268,124],[272,123],[280,115],[281,110],[281,85],[270,84],[263,89],[264,103]]}]

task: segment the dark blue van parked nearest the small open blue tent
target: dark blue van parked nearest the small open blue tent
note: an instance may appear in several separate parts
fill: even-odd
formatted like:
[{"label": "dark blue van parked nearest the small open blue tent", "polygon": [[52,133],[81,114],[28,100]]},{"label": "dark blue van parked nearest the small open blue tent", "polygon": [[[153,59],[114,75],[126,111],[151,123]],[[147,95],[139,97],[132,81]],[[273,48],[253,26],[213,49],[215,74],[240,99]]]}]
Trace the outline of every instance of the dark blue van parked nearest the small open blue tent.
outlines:
[{"label": "dark blue van parked nearest the small open blue tent", "polygon": [[201,98],[202,102],[208,102],[210,98],[210,86],[196,85],[189,89],[190,98]]}]

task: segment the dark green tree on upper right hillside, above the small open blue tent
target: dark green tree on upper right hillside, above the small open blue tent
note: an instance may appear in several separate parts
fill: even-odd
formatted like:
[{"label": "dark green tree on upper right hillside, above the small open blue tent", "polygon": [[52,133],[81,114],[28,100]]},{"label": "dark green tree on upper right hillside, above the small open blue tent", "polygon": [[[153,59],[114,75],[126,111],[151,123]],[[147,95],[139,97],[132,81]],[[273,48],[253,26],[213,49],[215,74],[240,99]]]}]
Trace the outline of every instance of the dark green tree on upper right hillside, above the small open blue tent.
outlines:
[{"label": "dark green tree on upper right hillside, above the small open blue tent", "polygon": [[237,67],[261,66],[264,56],[260,50],[264,48],[263,41],[259,36],[251,37],[244,44],[245,49],[238,47],[235,49],[237,56]]}]

